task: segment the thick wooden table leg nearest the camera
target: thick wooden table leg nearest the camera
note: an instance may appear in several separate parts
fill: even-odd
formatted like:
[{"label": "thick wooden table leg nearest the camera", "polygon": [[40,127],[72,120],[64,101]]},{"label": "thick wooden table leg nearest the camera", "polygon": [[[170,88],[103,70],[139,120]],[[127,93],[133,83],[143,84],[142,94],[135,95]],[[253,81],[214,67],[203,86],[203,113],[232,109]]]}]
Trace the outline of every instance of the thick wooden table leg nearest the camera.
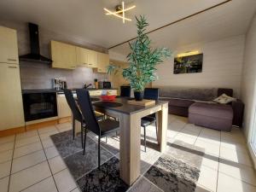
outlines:
[{"label": "thick wooden table leg nearest the camera", "polygon": [[131,185],[140,175],[141,119],[137,114],[121,114],[120,123],[120,177]]}]

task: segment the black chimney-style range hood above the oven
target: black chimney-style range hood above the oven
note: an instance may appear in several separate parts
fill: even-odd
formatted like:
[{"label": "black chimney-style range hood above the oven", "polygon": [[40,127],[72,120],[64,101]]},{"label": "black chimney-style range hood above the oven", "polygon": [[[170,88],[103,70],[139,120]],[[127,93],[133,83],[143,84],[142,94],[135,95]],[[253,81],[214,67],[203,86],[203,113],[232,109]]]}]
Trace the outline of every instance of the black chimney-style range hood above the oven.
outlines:
[{"label": "black chimney-style range hood above the oven", "polygon": [[20,61],[30,61],[30,62],[42,62],[50,64],[52,61],[40,55],[40,44],[39,44],[39,32],[38,25],[33,23],[28,23],[29,37],[30,37],[30,49],[31,53],[26,55],[20,55]]}]

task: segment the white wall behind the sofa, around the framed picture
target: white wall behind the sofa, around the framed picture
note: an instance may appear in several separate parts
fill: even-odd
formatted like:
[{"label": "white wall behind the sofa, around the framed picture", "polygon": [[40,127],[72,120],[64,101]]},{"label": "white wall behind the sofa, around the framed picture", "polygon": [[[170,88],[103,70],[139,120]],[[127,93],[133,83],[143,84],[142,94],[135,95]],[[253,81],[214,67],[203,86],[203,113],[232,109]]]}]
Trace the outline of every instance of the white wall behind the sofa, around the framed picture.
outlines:
[{"label": "white wall behind the sofa, around the framed picture", "polygon": [[174,50],[174,56],[190,50],[201,51],[202,73],[173,74],[174,58],[172,57],[157,67],[159,79],[153,83],[153,86],[231,88],[234,89],[235,96],[239,97],[244,41],[245,36],[241,35],[177,48]]}]

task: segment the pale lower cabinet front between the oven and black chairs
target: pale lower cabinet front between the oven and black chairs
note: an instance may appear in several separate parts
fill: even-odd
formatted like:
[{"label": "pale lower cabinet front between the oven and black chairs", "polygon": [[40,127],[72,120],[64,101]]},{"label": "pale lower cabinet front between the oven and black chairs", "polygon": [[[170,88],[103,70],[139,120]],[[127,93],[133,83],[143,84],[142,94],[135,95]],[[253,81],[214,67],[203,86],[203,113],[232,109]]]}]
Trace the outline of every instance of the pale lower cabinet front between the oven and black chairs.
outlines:
[{"label": "pale lower cabinet front between the oven and black chairs", "polygon": [[70,117],[72,114],[64,94],[57,95],[57,108],[58,108],[59,119]]}]

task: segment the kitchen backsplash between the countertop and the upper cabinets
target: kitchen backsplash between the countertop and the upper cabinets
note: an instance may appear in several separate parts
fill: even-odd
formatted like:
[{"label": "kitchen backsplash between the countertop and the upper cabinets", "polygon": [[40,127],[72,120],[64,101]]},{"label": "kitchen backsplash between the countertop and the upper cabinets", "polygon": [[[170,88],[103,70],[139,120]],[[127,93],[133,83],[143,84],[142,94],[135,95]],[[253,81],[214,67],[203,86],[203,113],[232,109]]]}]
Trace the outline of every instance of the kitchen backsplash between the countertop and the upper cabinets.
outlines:
[{"label": "kitchen backsplash between the countertop and the upper cabinets", "polygon": [[93,84],[94,79],[108,78],[104,73],[93,73],[91,68],[77,67],[74,70],[55,69],[44,63],[20,61],[22,90],[51,89],[52,79],[67,81],[67,88],[82,88],[83,84]]}]

